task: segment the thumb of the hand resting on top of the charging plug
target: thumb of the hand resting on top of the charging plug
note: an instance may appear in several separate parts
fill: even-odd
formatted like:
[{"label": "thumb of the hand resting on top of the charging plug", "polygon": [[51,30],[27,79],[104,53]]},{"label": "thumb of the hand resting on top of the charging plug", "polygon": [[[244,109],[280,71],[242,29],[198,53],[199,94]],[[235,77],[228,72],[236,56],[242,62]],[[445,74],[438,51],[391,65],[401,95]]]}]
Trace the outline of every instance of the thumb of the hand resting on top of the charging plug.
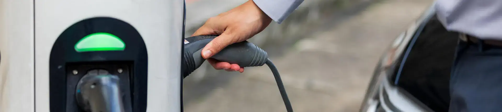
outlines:
[{"label": "thumb of the hand resting on top of the charging plug", "polygon": [[202,57],[207,59],[214,54],[221,51],[224,47],[234,43],[236,37],[233,37],[233,34],[230,33],[222,33],[221,35],[215,37],[209,43],[206,44],[204,48],[202,48]]}]

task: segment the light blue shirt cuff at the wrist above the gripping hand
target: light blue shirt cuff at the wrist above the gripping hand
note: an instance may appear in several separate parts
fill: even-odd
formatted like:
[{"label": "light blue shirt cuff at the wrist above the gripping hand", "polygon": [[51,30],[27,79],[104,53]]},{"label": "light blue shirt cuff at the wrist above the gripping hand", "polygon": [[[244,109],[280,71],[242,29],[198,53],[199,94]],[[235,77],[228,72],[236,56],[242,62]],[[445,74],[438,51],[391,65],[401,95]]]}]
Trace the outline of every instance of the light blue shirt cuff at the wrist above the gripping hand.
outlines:
[{"label": "light blue shirt cuff at the wrist above the gripping hand", "polygon": [[277,23],[286,19],[303,0],[253,0],[260,9]]}]

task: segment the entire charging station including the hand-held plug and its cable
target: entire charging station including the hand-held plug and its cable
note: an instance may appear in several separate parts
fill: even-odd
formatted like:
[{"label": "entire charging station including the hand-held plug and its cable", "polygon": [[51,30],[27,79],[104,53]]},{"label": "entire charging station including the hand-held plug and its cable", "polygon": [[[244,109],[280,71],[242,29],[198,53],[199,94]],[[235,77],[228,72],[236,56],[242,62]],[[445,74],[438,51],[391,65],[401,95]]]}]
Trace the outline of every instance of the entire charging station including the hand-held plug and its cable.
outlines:
[{"label": "entire charging station including the hand-held plug and its cable", "polygon": [[[0,110],[183,111],[182,80],[216,37],[184,38],[184,12],[183,0],[2,0]],[[212,58],[267,64],[293,111],[260,47],[238,42]]]}]

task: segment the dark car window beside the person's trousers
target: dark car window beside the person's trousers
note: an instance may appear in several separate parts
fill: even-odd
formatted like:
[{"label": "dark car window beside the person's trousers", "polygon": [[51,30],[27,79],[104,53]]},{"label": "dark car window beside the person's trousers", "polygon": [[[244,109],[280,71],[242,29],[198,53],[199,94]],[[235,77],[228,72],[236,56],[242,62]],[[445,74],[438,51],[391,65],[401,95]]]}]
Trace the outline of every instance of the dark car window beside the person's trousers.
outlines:
[{"label": "dark car window beside the person's trousers", "polygon": [[[424,21],[425,22],[425,21]],[[401,68],[392,80],[434,111],[448,111],[449,77],[458,33],[447,31],[436,16],[426,21],[408,55],[403,53]],[[406,56],[406,60],[402,60]],[[396,79],[397,78],[397,79]]]}]

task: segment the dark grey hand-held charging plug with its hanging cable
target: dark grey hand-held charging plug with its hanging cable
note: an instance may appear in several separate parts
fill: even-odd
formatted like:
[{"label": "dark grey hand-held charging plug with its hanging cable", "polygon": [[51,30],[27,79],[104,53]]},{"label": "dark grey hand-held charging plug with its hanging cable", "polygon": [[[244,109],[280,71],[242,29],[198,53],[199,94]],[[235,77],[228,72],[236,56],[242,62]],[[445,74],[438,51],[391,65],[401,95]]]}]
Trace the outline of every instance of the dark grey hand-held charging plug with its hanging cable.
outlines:
[{"label": "dark grey hand-held charging plug with its hanging cable", "polygon": [[[216,36],[217,35],[199,35],[185,38],[184,57],[182,60],[182,68],[184,68],[183,78],[202,65],[205,60],[201,55],[202,48]],[[262,48],[251,42],[242,41],[226,46],[220,52],[211,56],[211,58],[231,64],[238,64],[241,67],[262,66],[267,64],[274,74],[277,87],[279,87],[284,104],[286,105],[286,110],[288,112],[293,112],[293,107],[289,101],[279,71],[274,63],[270,61],[267,52]]]}]

